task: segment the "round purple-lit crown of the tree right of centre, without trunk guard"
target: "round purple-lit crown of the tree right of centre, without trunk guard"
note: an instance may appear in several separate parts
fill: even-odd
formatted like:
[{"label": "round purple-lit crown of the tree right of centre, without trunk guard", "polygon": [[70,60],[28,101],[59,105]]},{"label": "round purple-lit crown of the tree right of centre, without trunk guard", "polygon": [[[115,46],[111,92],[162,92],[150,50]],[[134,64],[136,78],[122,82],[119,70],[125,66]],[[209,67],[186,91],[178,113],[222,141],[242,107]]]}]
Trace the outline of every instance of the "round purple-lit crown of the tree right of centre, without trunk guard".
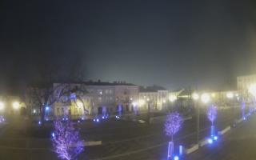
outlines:
[{"label": "round purple-lit crown of the tree right of centre, without trunk guard", "polygon": [[174,134],[182,127],[182,117],[178,112],[170,113],[167,115],[165,122],[165,132],[167,136],[171,136],[173,141]]}]

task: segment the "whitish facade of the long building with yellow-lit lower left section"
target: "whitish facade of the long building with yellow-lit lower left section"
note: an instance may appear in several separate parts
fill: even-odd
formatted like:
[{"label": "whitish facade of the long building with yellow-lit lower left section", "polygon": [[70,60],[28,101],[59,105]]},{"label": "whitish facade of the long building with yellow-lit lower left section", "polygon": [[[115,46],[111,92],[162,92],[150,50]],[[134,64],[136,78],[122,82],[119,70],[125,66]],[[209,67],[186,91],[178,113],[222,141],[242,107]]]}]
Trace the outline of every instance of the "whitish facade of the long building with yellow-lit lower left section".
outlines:
[{"label": "whitish facade of the long building with yellow-lit lower left section", "polygon": [[115,114],[120,106],[122,113],[125,113],[132,111],[134,102],[138,102],[138,86],[133,84],[84,82],[70,86],[84,92],[75,92],[70,98],[62,96],[54,102],[55,116],[71,115],[78,118],[83,115],[101,115],[103,112]]}]

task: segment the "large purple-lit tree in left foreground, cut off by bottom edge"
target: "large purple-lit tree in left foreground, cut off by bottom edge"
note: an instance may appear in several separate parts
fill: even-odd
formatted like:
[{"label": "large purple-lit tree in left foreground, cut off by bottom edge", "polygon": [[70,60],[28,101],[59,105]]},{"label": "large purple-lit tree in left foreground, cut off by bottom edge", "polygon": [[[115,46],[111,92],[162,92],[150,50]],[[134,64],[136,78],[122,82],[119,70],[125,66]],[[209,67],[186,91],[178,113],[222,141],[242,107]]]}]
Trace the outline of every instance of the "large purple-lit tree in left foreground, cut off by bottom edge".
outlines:
[{"label": "large purple-lit tree in left foreground, cut off by bottom edge", "polygon": [[54,122],[54,132],[51,136],[54,151],[58,154],[58,158],[75,159],[84,150],[83,141],[79,138],[79,132],[70,121],[64,123],[56,120]]}]

